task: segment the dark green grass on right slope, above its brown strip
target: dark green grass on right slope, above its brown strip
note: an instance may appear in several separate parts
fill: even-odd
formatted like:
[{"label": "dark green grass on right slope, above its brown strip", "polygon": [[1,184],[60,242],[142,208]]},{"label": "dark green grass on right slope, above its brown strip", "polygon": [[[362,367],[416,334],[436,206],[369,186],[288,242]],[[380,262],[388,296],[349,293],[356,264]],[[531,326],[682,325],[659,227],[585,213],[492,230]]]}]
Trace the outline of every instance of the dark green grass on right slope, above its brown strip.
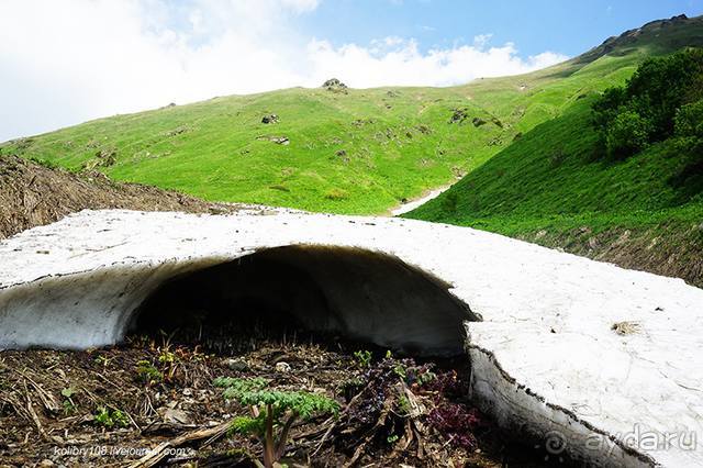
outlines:
[{"label": "dark green grass on right slope, above its brown strip", "polygon": [[[591,101],[584,99],[538,125],[409,216],[510,235],[545,223],[569,227],[588,220],[601,230],[610,227],[613,218],[631,223],[671,219],[683,207],[695,207],[688,211],[703,221],[698,210],[703,194],[671,182],[682,161],[669,144],[655,144],[624,161],[599,158]],[[603,225],[601,213],[609,213]]]}]

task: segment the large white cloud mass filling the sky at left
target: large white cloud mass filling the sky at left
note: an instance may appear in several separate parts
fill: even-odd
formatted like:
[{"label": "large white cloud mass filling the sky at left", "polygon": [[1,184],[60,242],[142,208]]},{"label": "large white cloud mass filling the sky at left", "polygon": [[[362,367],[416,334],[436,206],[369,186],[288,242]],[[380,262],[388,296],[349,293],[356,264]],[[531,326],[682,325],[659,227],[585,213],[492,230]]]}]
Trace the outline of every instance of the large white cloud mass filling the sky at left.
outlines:
[{"label": "large white cloud mass filling the sky at left", "polygon": [[0,2],[0,141],[213,96],[319,86],[445,86],[562,60],[512,44],[423,53],[388,37],[338,47],[295,31],[319,0]]}]

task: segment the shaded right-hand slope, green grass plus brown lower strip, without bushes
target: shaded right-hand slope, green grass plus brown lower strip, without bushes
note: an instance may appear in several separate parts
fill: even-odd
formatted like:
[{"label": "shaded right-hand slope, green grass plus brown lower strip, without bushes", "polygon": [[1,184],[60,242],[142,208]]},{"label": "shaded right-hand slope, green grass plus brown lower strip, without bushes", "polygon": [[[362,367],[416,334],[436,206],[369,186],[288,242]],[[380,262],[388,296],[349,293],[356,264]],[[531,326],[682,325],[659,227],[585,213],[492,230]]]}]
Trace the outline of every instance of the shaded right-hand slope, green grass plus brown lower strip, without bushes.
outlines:
[{"label": "shaded right-hand slope, green grass plus brown lower strip, without bushes", "polygon": [[[692,100],[700,96],[698,89]],[[537,125],[406,216],[489,230],[703,286],[703,140],[672,135],[632,156],[609,157],[593,123],[596,99],[584,98]],[[695,130],[689,125],[689,132]]]}]

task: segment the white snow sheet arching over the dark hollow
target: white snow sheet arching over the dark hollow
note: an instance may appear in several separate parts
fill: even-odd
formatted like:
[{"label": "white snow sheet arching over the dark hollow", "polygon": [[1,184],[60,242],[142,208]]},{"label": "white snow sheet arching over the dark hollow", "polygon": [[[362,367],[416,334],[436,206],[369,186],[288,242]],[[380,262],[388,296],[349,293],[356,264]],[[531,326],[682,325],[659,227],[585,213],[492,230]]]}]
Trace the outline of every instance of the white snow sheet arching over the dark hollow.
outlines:
[{"label": "white snow sheet arching over the dark hollow", "polygon": [[[172,275],[299,244],[394,255],[454,285],[482,317],[466,323],[471,391],[501,424],[603,466],[703,466],[703,290],[467,227],[83,211],[0,242],[0,348],[118,342]],[[636,325],[621,335],[620,322]]]}]

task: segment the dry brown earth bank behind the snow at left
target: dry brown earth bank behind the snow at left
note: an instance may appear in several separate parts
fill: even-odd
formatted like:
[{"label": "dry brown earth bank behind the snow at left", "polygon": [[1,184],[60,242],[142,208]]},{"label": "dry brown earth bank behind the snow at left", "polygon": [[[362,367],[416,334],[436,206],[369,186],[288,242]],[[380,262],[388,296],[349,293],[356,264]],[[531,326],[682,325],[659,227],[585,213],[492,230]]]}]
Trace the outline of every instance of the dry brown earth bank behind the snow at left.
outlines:
[{"label": "dry brown earth bank behind the snow at left", "polygon": [[74,174],[16,156],[0,157],[0,238],[49,224],[85,209],[223,213],[237,205],[209,203],[175,191],[118,183],[98,171]]}]

